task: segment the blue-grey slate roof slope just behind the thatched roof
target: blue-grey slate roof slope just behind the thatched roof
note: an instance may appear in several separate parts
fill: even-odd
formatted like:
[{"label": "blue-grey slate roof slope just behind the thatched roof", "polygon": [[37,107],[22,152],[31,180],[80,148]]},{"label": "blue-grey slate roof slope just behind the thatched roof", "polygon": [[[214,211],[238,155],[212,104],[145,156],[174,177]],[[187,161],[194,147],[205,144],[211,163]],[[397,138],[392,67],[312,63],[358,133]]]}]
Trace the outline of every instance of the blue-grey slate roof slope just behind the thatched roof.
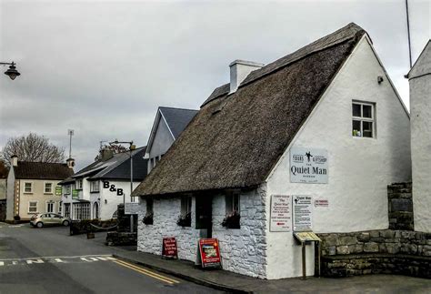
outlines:
[{"label": "blue-grey slate roof slope just behind the thatched roof", "polygon": [[195,117],[197,110],[185,109],[185,108],[174,108],[174,107],[158,107],[162,112],[163,117],[167,123],[167,127],[170,128],[172,135],[175,140],[180,136],[187,127],[188,123]]}]

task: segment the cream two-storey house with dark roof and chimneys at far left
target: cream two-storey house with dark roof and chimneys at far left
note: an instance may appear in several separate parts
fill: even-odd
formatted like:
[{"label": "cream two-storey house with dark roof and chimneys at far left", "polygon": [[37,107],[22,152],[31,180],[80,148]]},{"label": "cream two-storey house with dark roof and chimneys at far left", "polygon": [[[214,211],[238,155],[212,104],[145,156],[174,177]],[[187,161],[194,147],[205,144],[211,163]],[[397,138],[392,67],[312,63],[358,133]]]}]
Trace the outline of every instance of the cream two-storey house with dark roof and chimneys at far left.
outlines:
[{"label": "cream two-storey house with dark roof and chimneys at far left", "polygon": [[6,220],[29,220],[35,213],[61,211],[59,182],[74,174],[73,159],[63,163],[18,161],[11,158],[7,176]]}]

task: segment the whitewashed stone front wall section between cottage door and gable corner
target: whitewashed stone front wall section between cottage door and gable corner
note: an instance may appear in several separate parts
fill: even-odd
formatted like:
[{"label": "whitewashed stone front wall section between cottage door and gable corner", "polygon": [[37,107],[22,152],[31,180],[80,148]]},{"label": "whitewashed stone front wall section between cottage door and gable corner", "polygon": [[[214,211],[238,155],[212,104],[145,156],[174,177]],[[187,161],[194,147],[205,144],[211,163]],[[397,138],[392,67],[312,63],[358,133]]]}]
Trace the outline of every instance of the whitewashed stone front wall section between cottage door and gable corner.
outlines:
[{"label": "whitewashed stone front wall section between cottage door and gable corner", "polygon": [[224,195],[213,198],[213,237],[220,241],[223,269],[242,275],[266,278],[266,191],[241,193],[241,228],[224,228]]}]

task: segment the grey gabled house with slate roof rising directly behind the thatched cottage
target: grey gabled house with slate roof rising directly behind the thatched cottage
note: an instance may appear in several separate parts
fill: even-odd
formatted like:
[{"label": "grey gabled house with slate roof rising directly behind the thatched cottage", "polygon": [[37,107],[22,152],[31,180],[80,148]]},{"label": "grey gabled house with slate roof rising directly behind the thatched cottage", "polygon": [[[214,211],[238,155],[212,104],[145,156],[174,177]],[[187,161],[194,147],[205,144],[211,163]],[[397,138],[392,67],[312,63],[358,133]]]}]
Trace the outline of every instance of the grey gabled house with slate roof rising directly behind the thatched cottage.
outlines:
[{"label": "grey gabled house with slate roof rising directly behind the thatched cottage", "polygon": [[158,107],[146,144],[145,158],[148,159],[148,173],[174,144],[196,113],[197,110],[194,109]]}]

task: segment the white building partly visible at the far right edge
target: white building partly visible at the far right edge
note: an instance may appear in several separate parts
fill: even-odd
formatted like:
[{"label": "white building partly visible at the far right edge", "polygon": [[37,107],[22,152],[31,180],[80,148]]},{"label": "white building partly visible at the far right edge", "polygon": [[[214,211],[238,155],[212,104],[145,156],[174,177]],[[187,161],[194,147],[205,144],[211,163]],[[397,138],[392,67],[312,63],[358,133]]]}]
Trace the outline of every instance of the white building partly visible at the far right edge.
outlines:
[{"label": "white building partly visible at the far right edge", "polygon": [[408,75],[415,230],[431,232],[431,41]]}]

